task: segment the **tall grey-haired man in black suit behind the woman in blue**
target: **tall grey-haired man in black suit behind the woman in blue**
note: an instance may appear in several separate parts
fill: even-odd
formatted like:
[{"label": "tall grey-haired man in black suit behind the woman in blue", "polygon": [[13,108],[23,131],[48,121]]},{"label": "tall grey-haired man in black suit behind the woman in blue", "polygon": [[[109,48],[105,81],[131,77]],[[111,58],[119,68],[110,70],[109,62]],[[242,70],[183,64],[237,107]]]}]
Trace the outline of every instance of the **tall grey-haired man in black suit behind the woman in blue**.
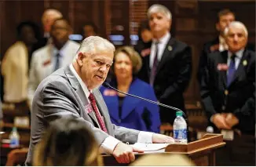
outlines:
[{"label": "tall grey-haired man in black suit behind the woman in blue", "polygon": [[[152,85],[160,103],[185,111],[183,93],[191,77],[192,53],[188,45],[171,36],[171,17],[169,9],[163,5],[155,4],[148,9],[153,38],[150,48],[137,50],[143,60],[139,78]],[[172,125],[175,112],[160,107],[161,122]]]}]

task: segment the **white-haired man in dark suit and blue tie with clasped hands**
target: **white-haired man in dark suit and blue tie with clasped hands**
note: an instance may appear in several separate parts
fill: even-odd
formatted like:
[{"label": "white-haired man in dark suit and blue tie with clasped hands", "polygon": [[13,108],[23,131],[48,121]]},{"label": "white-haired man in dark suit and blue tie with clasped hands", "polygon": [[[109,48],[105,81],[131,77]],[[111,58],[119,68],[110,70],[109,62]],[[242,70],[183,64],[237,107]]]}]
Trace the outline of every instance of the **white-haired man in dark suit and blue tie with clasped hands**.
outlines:
[{"label": "white-haired man in dark suit and blue tie with clasped hands", "polygon": [[202,76],[201,97],[207,118],[217,129],[255,133],[255,53],[246,48],[241,22],[225,28],[229,50],[211,53]]}]

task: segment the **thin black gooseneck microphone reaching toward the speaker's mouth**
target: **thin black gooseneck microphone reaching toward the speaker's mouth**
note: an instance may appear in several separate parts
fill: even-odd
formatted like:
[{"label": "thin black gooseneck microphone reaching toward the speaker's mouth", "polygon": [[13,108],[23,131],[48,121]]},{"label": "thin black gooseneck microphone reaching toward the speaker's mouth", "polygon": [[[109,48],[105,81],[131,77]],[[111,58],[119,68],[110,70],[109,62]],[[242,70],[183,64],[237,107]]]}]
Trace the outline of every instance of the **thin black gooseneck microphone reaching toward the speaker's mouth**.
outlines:
[{"label": "thin black gooseneck microphone reaching toward the speaker's mouth", "polygon": [[[147,101],[148,103],[155,103],[156,105],[159,105],[159,106],[162,106],[162,107],[166,107],[166,108],[170,108],[170,109],[172,109],[172,110],[174,110],[174,111],[181,111],[181,109],[178,109],[178,108],[176,108],[176,107],[171,107],[171,106],[168,106],[168,105],[166,105],[166,104],[159,103],[159,102],[156,102],[156,101],[153,101],[153,100],[148,100],[148,99],[145,99],[145,98],[143,98],[143,97],[141,97],[141,96],[135,96],[135,95],[132,95],[132,94],[129,94],[129,93],[123,93],[123,92],[120,91],[119,89],[115,89],[112,85],[109,85],[108,82],[103,82],[102,85],[104,85],[104,86],[107,87],[107,88],[114,89],[115,91],[117,91],[117,92],[119,92],[119,93],[122,93],[122,94],[125,94],[125,95],[127,95],[127,96],[133,96],[133,97],[135,97],[135,98],[137,98],[137,99],[141,99],[141,100]],[[181,112],[182,112],[182,114],[185,116],[185,118],[187,118],[187,116],[185,115],[185,113],[184,113],[183,111],[181,111]]]}]

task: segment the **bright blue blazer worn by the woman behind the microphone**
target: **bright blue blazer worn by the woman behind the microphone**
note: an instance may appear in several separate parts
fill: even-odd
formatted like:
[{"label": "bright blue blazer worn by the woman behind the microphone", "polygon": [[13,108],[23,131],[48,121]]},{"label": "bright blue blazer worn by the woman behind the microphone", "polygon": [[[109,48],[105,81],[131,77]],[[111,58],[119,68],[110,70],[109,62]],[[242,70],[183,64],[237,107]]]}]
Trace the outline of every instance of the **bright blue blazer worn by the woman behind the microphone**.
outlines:
[{"label": "bright blue blazer worn by the woman behind the microphone", "polygon": [[[115,82],[112,82],[111,85],[116,87]],[[122,114],[119,117],[119,97],[117,92],[104,86],[101,86],[100,91],[107,104],[113,124],[130,129],[159,133],[161,123],[157,105],[132,96],[125,96]],[[138,78],[133,79],[128,93],[157,101],[152,86]]]}]

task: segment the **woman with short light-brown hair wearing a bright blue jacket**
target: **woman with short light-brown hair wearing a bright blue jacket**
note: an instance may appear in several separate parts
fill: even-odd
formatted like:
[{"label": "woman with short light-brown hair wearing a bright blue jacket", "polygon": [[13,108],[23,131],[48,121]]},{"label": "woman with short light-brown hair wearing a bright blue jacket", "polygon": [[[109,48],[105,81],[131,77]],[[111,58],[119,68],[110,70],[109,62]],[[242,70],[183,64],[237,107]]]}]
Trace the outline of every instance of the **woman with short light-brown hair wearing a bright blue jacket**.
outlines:
[{"label": "woman with short light-brown hair wearing a bright blue jacket", "polygon": [[[136,77],[141,69],[141,56],[130,46],[115,51],[112,65],[114,77],[110,85],[125,93],[156,100],[152,86]],[[113,89],[101,86],[101,93],[115,125],[130,129],[159,133],[159,107],[144,100],[117,93]]]}]

